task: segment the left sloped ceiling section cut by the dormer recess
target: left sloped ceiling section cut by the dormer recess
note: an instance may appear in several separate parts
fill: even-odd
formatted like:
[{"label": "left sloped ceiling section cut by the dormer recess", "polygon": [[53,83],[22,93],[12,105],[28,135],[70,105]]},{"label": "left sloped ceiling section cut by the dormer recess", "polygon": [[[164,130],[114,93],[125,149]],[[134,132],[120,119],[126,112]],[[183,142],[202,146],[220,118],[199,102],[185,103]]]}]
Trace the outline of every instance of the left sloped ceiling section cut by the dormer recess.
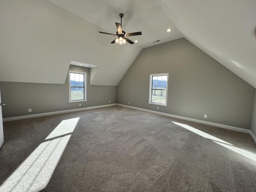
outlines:
[{"label": "left sloped ceiling section cut by the dormer recess", "polygon": [[141,48],[99,31],[48,0],[0,0],[0,81],[64,84],[72,60],[99,66],[91,84],[116,86]]}]

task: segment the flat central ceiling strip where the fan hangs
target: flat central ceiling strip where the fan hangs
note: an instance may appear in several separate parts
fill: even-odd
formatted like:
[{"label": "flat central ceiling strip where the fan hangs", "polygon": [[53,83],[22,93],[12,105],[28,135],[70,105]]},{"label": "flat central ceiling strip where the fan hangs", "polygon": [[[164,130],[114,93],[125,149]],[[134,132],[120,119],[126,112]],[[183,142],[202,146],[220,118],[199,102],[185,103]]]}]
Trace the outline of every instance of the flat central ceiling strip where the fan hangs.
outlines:
[{"label": "flat central ceiling strip where the fan hangs", "polygon": [[[49,1],[99,26],[104,29],[103,32],[112,34],[116,34],[115,22],[121,22],[119,14],[124,14],[122,18],[122,30],[126,33],[142,32],[142,36],[129,37],[132,41],[138,40],[137,45],[141,48],[183,37],[156,0]],[[166,32],[168,28],[171,28],[172,32]],[[100,35],[105,36],[105,34]],[[109,41],[109,43],[114,39],[114,36],[106,37],[106,41]],[[156,40],[160,41],[153,43]]]}]

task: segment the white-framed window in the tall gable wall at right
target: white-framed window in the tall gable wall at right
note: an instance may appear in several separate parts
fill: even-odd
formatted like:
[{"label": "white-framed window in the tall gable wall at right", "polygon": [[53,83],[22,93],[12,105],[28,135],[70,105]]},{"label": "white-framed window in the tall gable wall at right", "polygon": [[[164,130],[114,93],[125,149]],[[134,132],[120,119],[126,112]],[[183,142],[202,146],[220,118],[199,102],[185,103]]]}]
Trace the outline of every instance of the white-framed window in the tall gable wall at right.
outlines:
[{"label": "white-framed window in the tall gable wall at right", "polygon": [[150,74],[149,104],[167,106],[168,75]]}]

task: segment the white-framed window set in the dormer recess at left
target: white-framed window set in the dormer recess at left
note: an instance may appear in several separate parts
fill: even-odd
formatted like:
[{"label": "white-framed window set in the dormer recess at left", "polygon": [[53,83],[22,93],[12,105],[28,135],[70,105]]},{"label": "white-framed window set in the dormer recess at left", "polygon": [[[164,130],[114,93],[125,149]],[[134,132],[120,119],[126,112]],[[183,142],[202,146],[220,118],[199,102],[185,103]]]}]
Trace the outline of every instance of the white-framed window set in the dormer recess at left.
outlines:
[{"label": "white-framed window set in the dormer recess at left", "polygon": [[86,72],[68,71],[69,102],[86,101]]}]

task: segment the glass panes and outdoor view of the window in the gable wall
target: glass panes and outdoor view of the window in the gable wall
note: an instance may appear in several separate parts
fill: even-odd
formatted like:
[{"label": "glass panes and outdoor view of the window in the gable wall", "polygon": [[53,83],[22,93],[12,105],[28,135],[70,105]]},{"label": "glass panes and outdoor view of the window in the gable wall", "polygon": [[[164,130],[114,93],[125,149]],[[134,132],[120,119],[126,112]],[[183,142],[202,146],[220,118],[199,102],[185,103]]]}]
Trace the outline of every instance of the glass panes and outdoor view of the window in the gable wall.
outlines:
[{"label": "glass panes and outdoor view of the window in the gable wall", "polygon": [[151,102],[166,104],[167,75],[152,76]]}]

